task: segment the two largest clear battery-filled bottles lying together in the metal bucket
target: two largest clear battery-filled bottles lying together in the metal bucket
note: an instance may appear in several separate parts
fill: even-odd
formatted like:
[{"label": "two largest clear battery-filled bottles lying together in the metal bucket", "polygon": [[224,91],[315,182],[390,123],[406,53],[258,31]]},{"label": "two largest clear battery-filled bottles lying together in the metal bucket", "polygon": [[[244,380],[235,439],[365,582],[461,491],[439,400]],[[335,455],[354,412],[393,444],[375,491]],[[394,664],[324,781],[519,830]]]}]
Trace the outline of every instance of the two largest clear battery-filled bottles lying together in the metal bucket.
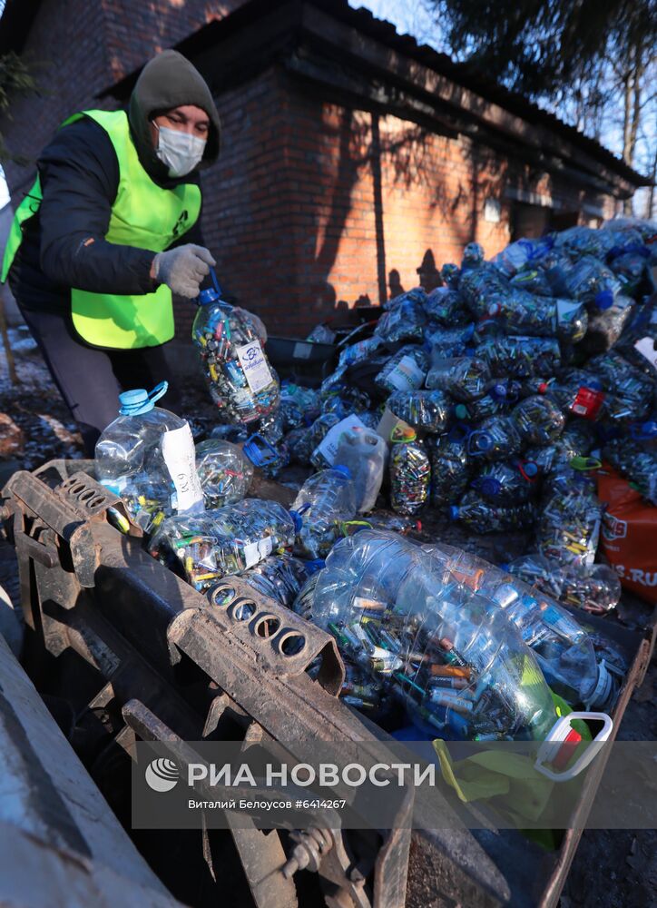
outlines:
[{"label": "two largest clear battery-filled bottles lying together in the metal bucket", "polygon": [[294,607],[336,638],[348,702],[400,699],[428,735],[542,740],[555,718],[548,675],[571,702],[613,697],[563,608],[457,549],[363,530],[334,546]]}]

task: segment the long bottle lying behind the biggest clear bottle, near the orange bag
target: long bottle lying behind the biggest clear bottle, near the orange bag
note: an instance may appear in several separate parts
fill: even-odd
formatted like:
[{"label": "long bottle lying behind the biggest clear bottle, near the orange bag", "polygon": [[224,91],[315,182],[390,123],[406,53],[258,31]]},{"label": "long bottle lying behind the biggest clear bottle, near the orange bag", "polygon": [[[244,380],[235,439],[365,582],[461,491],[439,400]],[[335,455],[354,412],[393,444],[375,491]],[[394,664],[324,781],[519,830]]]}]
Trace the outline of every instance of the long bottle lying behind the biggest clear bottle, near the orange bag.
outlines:
[{"label": "long bottle lying behind the biggest clear bottle, near the orange bag", "polygon": [[459,583],[503,610],[533,650],[555,693],[571,706],[600,709],[612,705],[613,676],[604,663],[598,666],[591,639],[553,597],[460,548],[443,544],[423,548]]}]

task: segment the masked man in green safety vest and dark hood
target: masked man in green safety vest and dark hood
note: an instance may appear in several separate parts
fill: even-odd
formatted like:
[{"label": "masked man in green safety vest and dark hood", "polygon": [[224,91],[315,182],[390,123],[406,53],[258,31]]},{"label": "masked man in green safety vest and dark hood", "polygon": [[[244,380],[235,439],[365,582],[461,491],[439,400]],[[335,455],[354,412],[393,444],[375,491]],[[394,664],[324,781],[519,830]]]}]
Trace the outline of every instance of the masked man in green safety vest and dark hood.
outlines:
[{"label": "masked man in green safety vest and dark hood", "polygon": [[64,121],[18,205],[0,280],[71,409],[87,452],[117,415],[119,391],[175,383],[162,345],[172,292],[193,298],[215,262],[199,228],[199,171],[220,149],[201,74],[164,51],[142,70],[128,111]]}]

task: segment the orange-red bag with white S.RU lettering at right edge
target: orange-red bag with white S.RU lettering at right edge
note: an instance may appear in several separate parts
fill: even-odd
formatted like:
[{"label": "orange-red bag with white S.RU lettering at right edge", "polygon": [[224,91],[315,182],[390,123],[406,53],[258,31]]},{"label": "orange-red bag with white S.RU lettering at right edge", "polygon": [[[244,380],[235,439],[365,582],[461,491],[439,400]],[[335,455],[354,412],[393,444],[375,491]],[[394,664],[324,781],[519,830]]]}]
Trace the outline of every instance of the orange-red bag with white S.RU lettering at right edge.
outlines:
[{"label": "orange-red bag with white S.RU lettering at right edge", "polygon": [[598,498],[606,502],[601,543],[623,587],[657,603],[657,508],[604,464]]}]

